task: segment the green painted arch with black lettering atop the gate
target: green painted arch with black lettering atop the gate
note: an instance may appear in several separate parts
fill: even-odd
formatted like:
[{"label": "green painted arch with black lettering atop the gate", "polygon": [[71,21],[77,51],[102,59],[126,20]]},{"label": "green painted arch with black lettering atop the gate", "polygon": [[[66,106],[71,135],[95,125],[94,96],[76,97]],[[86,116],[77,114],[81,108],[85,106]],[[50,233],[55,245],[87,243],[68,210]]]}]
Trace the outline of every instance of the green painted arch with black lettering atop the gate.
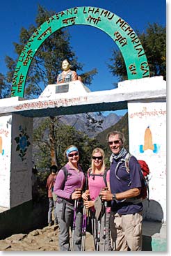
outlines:
[{"label": "green painted arch with black lettering atop the gate", "polygon": [[102,8],[91,6],[74,7],[56,13],[40,27],[35,29],[17,61],[11,88],[12,97],[24,96],[24,87],[29,66],[44,40],[58,29],[71,25],[89,25],[101,29],[108,36],[111,36],[122,52],[129,80],[149,77],[149,66],[145,51],[138,36],[136,36],[136,33],[127,22],[114,13]]}]

